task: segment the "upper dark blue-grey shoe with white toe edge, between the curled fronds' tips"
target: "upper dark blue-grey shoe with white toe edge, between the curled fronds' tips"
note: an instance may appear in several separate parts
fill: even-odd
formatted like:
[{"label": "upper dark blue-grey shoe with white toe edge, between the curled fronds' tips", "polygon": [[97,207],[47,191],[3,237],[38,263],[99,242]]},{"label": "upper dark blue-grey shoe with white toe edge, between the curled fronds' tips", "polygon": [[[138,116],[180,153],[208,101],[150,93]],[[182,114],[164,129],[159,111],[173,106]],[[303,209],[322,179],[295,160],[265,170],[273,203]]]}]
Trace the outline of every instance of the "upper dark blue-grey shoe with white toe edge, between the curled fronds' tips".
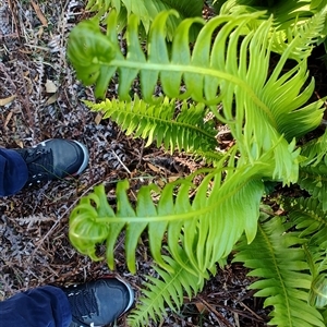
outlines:
[{"label": "upper dark blue-grey shoe with white toe edge, between the curled fronds' tips", "polygon": [[87,148],[77,141],[53,138],[15,150],[27,165],[27,185],[77,175],[88,164]]}]

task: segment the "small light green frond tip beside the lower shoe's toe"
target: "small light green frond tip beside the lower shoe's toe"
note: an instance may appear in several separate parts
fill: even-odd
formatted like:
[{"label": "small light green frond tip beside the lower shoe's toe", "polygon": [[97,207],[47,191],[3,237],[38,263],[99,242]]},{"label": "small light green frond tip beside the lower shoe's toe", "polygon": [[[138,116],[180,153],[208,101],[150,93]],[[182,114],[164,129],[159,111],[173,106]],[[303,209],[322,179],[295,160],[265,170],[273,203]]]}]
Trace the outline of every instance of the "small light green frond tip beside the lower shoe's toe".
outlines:
[{"label": "small light green frond tip beside the lower shoe's toe", "polygon": [[158,320],[162,317],[166,304],[177,312],[184,302],[184,292],[191,299],[202,290],[204,279],[198,280],[197,276],[190,274],[169,256],[164,256],[164,259],[171,266],[173,274],[154,267],[160,278],[148,276],[149,281],[143,289],[144,295],[138,299],[141,304],[129,315],[129,326],[148,326],[149,318]]}]

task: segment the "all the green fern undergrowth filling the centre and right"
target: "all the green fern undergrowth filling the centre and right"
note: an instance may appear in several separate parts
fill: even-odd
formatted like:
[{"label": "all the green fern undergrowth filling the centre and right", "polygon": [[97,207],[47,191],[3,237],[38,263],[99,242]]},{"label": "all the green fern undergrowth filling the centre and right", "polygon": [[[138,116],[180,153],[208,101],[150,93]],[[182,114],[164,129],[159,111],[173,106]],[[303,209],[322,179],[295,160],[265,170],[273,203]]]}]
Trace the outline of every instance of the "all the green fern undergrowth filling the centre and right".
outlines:
[{"label": "all the green fern undergrowth filling the centre and right", "polygon": [[[326,9],[315,7],[283,22],[287,13],[268,9],[276,16],[268,15],[252,1],[245,9],[225,1],[220,14],[205,22],[189,10],[190,1],[177,8],[171,1],[140,0],[138,9],[130,1],[102,2],[89,1],[100,17],[72,31],[68,56],[78,78],[95,84],[97,97],[118,74],[119,99],[88,107],[147,145],[156,141],[208,165],[162,189],[143,186],[135,206],[126,180],[117,185],[116,206],[104,185],[95,187],[71,214],[72,244],[93,259],[99,259],[97,244],[106,244],[113,269],[114,244],[124,233],[128,267],[135,272],[137,242],[147,233],[160,278],[148,277],[129,316],[131,326],[159,319],[166,306],[178,311],[183,296],[201,291],[232,252],[234,262],[258,278],[251,288],[274,307],[270,325],[326,326],[327,134],[299,143],[323,117],[324,101],[310,101],[315,84],[307,59],[325,37]],[[288,3],[289,11],[298,4]],[[126,53],[119,34],[124,27]],[[274,68],[272,53],[279,56]],[[141,98],[130,92],[135,78]],[[158,84],[164,95],[155,97]],[[219,148],[217,121],[234,138],[230,148]],[[299,184],[310,196],[276,198],[282,215],[263,210],[271,182]]]}]

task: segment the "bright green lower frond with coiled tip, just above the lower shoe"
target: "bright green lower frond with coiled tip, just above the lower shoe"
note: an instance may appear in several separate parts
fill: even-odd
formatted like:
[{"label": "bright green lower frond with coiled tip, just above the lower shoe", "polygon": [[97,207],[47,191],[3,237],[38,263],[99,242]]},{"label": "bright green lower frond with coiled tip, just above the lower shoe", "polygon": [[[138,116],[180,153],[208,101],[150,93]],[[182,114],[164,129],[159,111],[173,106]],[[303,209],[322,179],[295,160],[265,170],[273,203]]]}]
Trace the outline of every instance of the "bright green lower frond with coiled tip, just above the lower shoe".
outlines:
[{"label": "bright green lower frond with coiled tip, just above the lower shoe", "polygon": [[[157,205],[152,192],[159,190],[155,185],[142,187],[134,209],[126,195],[129,183],[123,181],[117,186],[114,213],[106,201],[104,186],[97,186],[72,211],[70,240],[81,253],[94,259],[97,259],[96,244],[106,242],[107,261],[113,268],[114,243],[124,229],[126,263],[134,272],[137,240],[147,229],[154,259],[169,270],[161,257],[162,239],[167,232],[172,258],[191,274],[206,277],[207,271],[231,252],[243,231],[249,241],[255,237],[264,192],[263,182],[256,178],[257,173],[261,175],[262,164],[257,164],[258,167],[233,166],[234,161],[230,160],[227,174],[218,168],[209,170],[192,202],[189,192],[193,184],[185,179],[167,184]],[[180,256],[180,247],[186,253],[187,265]]]}]

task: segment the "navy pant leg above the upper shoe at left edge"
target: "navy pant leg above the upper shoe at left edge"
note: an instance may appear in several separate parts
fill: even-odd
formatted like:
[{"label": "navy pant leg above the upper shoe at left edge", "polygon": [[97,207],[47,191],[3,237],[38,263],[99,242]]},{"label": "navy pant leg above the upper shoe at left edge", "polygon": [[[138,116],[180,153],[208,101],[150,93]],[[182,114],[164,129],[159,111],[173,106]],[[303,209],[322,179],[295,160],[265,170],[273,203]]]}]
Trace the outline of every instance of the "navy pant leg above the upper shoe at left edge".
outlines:
[{"label": "navy pant leg above the upper shoe at left edge", "polygon": [[27,166],[21,155],[12,149],[0,148],[0,196],[17,193],[27,178]]}]

